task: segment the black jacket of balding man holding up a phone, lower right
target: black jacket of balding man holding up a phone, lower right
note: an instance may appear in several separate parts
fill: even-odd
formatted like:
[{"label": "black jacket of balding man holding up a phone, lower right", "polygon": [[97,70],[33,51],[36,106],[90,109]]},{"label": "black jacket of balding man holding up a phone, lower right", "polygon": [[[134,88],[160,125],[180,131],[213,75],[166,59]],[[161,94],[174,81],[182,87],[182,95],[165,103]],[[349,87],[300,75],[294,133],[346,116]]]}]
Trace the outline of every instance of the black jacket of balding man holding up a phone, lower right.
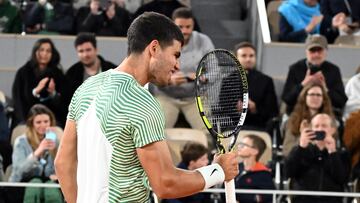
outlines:
[{"label": "black jacket of balding man holding up a phone, lower right", "polygon": [[[296,146],[285,160],[291,189],[343,192],[350,174],[350,157],[345,149],[329,154],[316,145]],[[342,202],[337,197],[296,196],[298,202]]]}]

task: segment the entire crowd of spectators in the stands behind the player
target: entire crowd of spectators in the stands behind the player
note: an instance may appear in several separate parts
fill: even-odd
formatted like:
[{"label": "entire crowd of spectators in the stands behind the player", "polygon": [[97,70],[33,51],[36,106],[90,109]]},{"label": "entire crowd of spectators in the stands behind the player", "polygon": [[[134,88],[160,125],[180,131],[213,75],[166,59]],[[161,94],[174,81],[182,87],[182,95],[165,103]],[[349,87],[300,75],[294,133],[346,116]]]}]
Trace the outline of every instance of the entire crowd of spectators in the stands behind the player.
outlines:
[{"label": "entire crowd of spectators in the stands behind the player", "polygon": [[[344,3],[345,2],[345,3]],[[347,2],[347,3],[346,3]],[[341,68],[326,60],[328,42],[336,36],[359,33],[359,1],[288,0],[279,7],[280,40],[305,43],[305,58],[291,64],[282,92],[286,111],[280,114],[274,82],[261,73],[256,63],[256,48],[250,42],[235,46],[234,55],[247,73],[249,106],[244,129],[268,131],[274,117],[282,117],[284,132],[283,160],[290,188],[310,191],[345,191],[348,181],[360,173],[360,73],[344,88]],[[166,118],[166,128],[176,125],[183,113],[192,128],[205,131],[194,100],[195,71],[201,57],[214,49],[211,39],[195,31],[191,12],[176,0],[155,0],[127,10],[123,1],[103,5],[91,0],[74,9],[60,0],[31,3],[24,13],[9,0],[0,0],[0,31],[3,33],[77,34],[74,47],[79,61],[64,73],[61,53],[50,38],[35,42],[29,60],[16,73],[12,89],[15,123],[26,130],[10,144],[12,126],[8,126],[5,104],[0,103],[0,181],[12,163],[11,182],[56,182],[53,160],[59,135],[48,139],[47,132],[63,127],[67,106],[76,89],[87,78],[116,67],[98,54],[96,36],[126,36],[131,20],[142,12],[155,10],[171,17],[182,31],[185,44],[180,57],[181,70],[171,77],[169,87],[150,86]],[[158,9],[158,10],[156,10]],[[174,12],[173,12],[174,11]],[[6,17],[3,17],[6,16]],[[26,17],[24,17],[26,16]],[[21,18],[24,17],[24,18]],[[350,19],[350,21],[349,21]],[[322,134],[322,137],[319,135]],[[209,140],[211,140],[209,136]],[[211,142],[211,141],[210,141]],[[213,145],[210,145],[213,146]],[[238,154],[240,173],[235,178],[239,189],[275,189],[274,168],[261,163],[266,144],[249,134],[241,139]],[[196,143],[185,145],[179,168],[195,170],[209,163],[212,149]],[[9,190],[16,200],[53,198],[63,202],[58,189]],[[4,194],[0,189],[0,195]],[[21,195],[19,195],[21,194]],[[0,196],[0,202],[1,202]],[[11,198],[11,197],[10,197]],[[209,202],[210,195],[164,202]],[[8,200],[8,199],[6,199]],[[239,202],[271,202],[271,196],[239,194]],[[47,201],[47,200],[45,200]],[[298,196],[293,202],[341,202],[339,198]]]}]

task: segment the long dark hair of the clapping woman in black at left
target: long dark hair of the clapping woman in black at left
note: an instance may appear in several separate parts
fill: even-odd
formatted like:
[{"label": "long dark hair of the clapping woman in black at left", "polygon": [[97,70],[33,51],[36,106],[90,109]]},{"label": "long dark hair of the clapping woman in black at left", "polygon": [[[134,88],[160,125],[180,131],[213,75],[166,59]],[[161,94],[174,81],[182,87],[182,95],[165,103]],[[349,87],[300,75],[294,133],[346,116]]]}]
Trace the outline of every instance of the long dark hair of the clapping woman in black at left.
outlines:
[{"label": "long dark hair of the clapping woman in black at left", "polygon": [[51,47],[51,59],[49,61],[49,64],[47,65],[47,67],[53,68],[53,67],[59,66],[60,54],[59,54],[59,51],[56,49],[54,43],[49,38],[41,38],[35,42],[33,49],[31,51],[30,63],[33,67],[38,67],[38,65],[39,65],[39,63],[36,59],[37,50],[39,50],[39,48],[42,44],[46,44],[46,43],[49,43],[50,47]]}]

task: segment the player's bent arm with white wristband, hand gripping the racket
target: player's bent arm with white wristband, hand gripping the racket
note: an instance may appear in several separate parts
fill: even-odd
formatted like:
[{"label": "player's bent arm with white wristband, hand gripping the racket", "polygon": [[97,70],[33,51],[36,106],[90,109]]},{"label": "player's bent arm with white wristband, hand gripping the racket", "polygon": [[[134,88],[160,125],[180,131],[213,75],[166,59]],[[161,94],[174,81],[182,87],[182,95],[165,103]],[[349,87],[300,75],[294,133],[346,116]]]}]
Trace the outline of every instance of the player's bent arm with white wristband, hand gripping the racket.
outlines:
[{"label": "player's bent arm with white wristband, hand gripping the racket", "polygon": [[[141,165],[149,177],[153,191],[162,199],[179,198],[198,193],[206,187],[205,185],[212,186],[212,180],[216,179],[214,176],[219,175],[219,171],[212,174],[215,169],[212,166],[206,168],[210,172],[209,176],[205,175],[205,177],[197,170],[187,171],[176,168],[173,165],[166,141],[154,142],[137,148],[136,151]],[[220,155],[216,158],[216,162],[224,171],[224,179],[227,181],[239,173],[236,153]],[[205,181],[205,179],[207,180]]]}]

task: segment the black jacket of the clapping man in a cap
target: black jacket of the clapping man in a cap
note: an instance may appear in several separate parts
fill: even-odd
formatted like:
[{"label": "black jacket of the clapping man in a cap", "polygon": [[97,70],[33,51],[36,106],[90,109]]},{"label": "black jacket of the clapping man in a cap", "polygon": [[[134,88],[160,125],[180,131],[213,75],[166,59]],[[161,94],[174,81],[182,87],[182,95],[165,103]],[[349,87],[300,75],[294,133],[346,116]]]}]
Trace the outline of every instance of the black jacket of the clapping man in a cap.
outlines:
[{"label": "black jacket of the clapping man in a cap", "polygon": [[[289,115],[292,112],[297,98],[303,88],[301,82],[305,78],[307,69],[306,59],[297,61],[289,68],[282,93],[282,99],[287,105],[287,113]],[[320,66],[320,70],[324,74],[325,82],[329,90],[328,94],[333,107],[336,109],[342,109],[347,101],[347,96],[345,94],[340,69],[330,62],[324,61]]]}]

